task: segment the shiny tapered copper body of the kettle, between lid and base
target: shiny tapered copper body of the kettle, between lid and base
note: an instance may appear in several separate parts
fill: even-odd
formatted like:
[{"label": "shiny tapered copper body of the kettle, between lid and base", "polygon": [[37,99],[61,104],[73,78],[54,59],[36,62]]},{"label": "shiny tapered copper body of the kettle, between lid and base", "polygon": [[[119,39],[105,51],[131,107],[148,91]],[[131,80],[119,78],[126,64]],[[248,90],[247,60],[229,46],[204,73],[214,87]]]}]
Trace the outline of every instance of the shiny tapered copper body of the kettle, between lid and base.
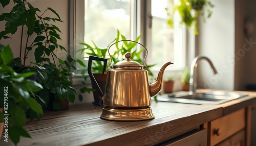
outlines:
[{"label": "shiny tapered copper body of the kettle, between lid and base", "polygon": [[104,107],[122,109],[150,107],[150,84],[147,70],[111,69],[106,74]]}]

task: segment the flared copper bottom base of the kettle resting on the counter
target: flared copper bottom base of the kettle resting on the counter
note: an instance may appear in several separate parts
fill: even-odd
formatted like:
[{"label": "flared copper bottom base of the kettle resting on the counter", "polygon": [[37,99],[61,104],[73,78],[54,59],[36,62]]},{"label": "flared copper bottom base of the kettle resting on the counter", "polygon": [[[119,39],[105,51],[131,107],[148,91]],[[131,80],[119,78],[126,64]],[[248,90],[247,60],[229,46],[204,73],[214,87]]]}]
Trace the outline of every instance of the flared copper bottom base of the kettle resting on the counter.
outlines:
[{"label": "flared copper bottom base of the kettle resting on the counter", "polygon": [[138,121],[153,119],[155,116],[150,107],[141,109],[116,109],[103,107],[100,118],[119,121]]}]

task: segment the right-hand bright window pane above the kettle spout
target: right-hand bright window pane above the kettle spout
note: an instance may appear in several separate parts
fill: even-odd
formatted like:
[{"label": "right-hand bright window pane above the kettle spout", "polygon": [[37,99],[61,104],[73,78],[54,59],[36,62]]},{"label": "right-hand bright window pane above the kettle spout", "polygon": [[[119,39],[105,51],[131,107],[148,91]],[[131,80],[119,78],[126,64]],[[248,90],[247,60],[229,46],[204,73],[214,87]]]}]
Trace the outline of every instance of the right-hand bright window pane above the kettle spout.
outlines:
[{"label": "right-hand bright window pane above the kettle spout", "polygon": [[[156,70],[166,62],[172,61],[174,65],[172,69],[181,70],[185,67],[185,44],[186,29],[183,25],[174,25],[174,29],[167,24],[167,13],[165,8],[172,11],[173,3],[168,0],[151,0],[151,25],[147,31],[151,29],[151,51],[148,62],[157,64]],[[148,6],[150,8],[150,6]],[[174,22],[179,16],[174,17]],[[149,35],[149,36],[150,36]]]}]

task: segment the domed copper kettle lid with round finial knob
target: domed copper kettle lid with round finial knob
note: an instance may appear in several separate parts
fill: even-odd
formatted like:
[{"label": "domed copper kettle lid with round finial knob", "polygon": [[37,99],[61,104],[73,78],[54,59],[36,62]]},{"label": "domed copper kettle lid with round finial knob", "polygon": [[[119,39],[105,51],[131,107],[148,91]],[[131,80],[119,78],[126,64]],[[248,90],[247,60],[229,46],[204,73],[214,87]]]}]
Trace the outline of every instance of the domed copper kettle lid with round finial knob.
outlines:
[{"label": "domed copper kettle lid with round finial knob", "polygon": [[114,69],[143,69],[143,65],[130,59],[132,57],[130,52],[125,53],[124,56],[126,60],[117,62],[113,65]]}]

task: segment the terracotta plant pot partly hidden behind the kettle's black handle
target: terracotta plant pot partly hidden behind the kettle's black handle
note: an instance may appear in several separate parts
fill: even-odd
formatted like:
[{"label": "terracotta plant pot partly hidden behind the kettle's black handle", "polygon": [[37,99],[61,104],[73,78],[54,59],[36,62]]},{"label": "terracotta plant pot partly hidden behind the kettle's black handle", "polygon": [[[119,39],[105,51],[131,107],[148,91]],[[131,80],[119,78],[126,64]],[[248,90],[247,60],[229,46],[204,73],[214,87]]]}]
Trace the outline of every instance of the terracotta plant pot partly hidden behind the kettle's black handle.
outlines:
[{"label": "terracotta plant pot partly hidden behind the kettle's black handle", "polygon": [[[104,74],[93,74],[95,80],[97,81],[101,91],[104,93],[105,91],[105,86],[106,86],[106,75]],[[97,91],[96,86],[92,84],[92,88],[95,89],[96,91],[93,92],[93,97],[94,97],[94,102],[93,104],[103,107],[103,101],[102,101],[102,96],[100,93]]]}]

